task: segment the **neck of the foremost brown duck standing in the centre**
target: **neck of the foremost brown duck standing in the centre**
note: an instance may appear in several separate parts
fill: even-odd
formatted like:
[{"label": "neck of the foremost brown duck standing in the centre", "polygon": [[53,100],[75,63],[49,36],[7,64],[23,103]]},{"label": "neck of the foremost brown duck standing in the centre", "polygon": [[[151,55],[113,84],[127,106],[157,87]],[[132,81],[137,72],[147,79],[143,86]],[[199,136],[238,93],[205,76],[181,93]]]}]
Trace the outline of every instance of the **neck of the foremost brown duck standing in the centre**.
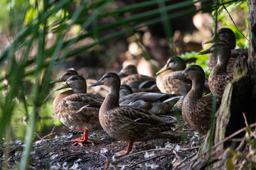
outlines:
[{"label": "neck of the foremost brown duck standing in the centre", "polygon": [[102,107],[108,110],[119,106],[119,87],[120,84],[110,87],[110,92],[103,101]]}]

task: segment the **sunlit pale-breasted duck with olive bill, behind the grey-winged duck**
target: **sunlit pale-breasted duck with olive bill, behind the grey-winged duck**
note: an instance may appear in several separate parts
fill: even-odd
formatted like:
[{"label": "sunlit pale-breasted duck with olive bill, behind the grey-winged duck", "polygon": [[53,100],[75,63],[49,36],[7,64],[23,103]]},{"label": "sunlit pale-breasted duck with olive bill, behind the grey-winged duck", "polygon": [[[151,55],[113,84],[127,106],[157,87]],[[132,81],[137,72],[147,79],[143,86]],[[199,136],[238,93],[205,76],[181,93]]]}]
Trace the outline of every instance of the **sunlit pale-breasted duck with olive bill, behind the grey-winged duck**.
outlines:
[{"label": "sunlit pale-breasted duck with olive bill, behind the grey-winged duck", "polygon": [[186,63],[181,57],[170,57],[164,67],[156,73],[156,86],[162,93],[185,96],[191,89],[191,80],[171,79],[181,74],[185,68]]}]

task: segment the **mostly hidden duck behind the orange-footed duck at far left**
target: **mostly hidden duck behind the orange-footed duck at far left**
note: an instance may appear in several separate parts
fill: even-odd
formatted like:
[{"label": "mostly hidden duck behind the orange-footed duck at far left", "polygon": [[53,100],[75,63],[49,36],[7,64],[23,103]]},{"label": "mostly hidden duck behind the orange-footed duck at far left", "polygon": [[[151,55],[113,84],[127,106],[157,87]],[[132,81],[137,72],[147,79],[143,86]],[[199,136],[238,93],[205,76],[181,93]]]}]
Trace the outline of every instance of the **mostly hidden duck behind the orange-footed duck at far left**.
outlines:
[{"label": "mostly hidden duck behind the orange-footed duck at far left", "polygon": [[[63,81],[65,82],[65,81],[67,81],[67,79],[69,77],[71,77],[73,75],[79,75],[79,74],[74,69],[67,69],[63,73],[63,75],[61,75],[58,79],[50,81],[50,84],[55,84],[55,83],[63,82]],[[94,84],[95,82],[97,82],[97,80],[95,80],[95,79],[86,79],[86,84],[88,84],[88,86],[90,84]],[[94,88],[94,89],[87,87],[87,93],[95,94],[96,96],[102,96],[103,98],[105,98],[105,96],[108,93],[108,91],[109,91],[109,89],[106,86],[101,86],[101,87],[97,87],[97,88]]]}]

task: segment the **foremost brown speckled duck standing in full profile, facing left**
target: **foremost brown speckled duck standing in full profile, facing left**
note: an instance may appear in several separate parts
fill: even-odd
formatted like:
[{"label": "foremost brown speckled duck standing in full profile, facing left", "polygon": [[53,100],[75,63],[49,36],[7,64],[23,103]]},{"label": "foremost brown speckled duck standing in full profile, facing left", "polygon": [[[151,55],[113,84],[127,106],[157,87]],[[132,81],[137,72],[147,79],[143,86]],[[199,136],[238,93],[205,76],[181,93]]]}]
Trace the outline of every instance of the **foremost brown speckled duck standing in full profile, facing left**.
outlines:
[{"label": "foremost brown speckled duck standing in full profile, facing left", "polygon": [[104,74],[91,86],[105,85],[110,92],[100,107],[102,128],[117,140],[127,141],[128,147],[115,155],[122,157],[132,151],[134,142],[143,142],[162,137],[177,137],[178,132],[171,130],[174,125],[166,123],[154,114],[131,106],[119,106],[120,79],[115,73]]}]

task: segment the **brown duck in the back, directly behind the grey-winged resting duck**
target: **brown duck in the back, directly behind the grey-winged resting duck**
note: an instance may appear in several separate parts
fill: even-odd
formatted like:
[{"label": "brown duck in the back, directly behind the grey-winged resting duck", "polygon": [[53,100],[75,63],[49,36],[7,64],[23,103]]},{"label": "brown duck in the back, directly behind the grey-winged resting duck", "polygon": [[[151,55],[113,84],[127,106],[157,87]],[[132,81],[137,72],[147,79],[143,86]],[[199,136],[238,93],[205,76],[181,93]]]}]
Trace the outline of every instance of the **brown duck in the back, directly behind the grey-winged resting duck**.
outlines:
[{"label": "brown duck in the back, directly behind the grey-winged resting duck", "polygon": [[142,74],[138,74],[135,65],[127,65],[126,67],[122,68],[118,75],[121,78],[121,83],[129,85],[134,92],[159,91],[156,86],[156,79],[154,77],[148,77]]}]

